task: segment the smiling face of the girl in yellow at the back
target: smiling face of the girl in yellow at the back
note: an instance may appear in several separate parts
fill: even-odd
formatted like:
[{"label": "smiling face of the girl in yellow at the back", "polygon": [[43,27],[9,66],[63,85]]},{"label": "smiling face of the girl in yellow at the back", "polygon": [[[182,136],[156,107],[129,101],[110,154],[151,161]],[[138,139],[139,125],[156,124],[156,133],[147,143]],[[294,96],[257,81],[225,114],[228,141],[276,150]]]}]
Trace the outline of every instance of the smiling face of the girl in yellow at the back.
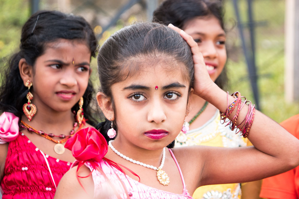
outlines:
[{"label": "smiling face of the girl in yellow at the back", "polygon": [[226,63],[225,32],[215,16],[194,18],[186,23],[183,30],[197,42],[210,77],[219,77]]}]

